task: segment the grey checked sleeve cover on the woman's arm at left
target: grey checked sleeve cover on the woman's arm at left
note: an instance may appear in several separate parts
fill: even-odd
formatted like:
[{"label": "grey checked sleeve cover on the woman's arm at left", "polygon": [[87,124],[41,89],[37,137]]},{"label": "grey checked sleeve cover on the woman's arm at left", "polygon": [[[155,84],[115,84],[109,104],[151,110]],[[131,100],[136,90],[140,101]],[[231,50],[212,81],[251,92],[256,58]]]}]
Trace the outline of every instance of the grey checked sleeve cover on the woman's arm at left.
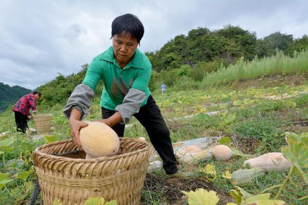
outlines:
[{"label": "grey checked sleeve cover on the woman's arm at left", "polygon": [[91,99],[94,97],[94,91],[85,84],[75,87],[74,91],[67,100],[67,105],[63,108],[64,115],[69,118],[72,109],[78,109],[81,112],[81,120],[84,119],[91,106]]}]

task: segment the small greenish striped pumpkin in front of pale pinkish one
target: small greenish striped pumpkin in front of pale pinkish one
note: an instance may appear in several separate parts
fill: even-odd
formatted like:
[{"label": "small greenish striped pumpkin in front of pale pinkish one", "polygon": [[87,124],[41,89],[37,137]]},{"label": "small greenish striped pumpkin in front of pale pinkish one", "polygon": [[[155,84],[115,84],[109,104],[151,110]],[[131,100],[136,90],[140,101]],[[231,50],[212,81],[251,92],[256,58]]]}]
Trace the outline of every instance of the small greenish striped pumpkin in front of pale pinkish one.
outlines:
[{"label": "small greenish striped pumpkin in front of pale pinkish one", "polygon": [[246,186],[252,183],[256,178],[263,176],[265,174],[264,170],[255,167],[253,169],[237,170],[232,173],[230,182],[235,186]]}]

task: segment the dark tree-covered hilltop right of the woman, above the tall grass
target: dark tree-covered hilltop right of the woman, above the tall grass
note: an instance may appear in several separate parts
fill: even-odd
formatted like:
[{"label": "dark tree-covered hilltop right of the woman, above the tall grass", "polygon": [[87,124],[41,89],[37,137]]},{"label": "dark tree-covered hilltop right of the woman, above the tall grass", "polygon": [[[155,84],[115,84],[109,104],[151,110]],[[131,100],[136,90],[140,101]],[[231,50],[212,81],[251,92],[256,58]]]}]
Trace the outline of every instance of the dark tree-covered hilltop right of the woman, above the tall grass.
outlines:
[{"label": "dark tree-covered hilltop right of the woman, above the tall grass", "polygon": [[258,39],[253,31],[227,25],[223,29],[197,28],[169,40],[160,50],[146,52],[156,71],[172,70],[181,65],[195,67],[200,62],[217,62],[225,66],[234,64],[240,57],[253,60],[276,54],[276,49],[286,55],[308,48],[308,36],[295,39],[292,34],[275,32]]}]

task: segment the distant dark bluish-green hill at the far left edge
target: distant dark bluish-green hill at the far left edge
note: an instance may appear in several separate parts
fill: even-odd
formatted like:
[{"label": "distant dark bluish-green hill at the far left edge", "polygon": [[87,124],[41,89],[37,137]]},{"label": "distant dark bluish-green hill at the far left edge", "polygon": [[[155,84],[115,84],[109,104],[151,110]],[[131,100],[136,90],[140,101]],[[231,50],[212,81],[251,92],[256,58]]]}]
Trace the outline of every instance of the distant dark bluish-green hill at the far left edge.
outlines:
[{"label": "distant dark bluish-green hill at the far left edge", "polygon": [[11,104],[16,103],[19,98],[30,93],[30,91],[21,86],[10,87],[0,83],[0,112],[5,111]]}]

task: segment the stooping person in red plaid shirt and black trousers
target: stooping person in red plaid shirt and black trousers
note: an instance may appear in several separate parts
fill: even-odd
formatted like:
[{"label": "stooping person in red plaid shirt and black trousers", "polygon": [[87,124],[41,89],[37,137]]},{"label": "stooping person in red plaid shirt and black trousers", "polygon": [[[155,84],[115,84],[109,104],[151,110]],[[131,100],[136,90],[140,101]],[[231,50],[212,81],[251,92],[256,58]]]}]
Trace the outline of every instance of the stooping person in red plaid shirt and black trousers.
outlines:
[{"label": "stooping person in red plaid shirt and black trousers", "polygon": [[15,113],[16,131],[26,133],[27,119],[31,115],[29,110],[31,108],[34,115],[36,115],[35,101],[42,96],[41,92],[34,91],[33,93],[22,96],[12,109]]}]

